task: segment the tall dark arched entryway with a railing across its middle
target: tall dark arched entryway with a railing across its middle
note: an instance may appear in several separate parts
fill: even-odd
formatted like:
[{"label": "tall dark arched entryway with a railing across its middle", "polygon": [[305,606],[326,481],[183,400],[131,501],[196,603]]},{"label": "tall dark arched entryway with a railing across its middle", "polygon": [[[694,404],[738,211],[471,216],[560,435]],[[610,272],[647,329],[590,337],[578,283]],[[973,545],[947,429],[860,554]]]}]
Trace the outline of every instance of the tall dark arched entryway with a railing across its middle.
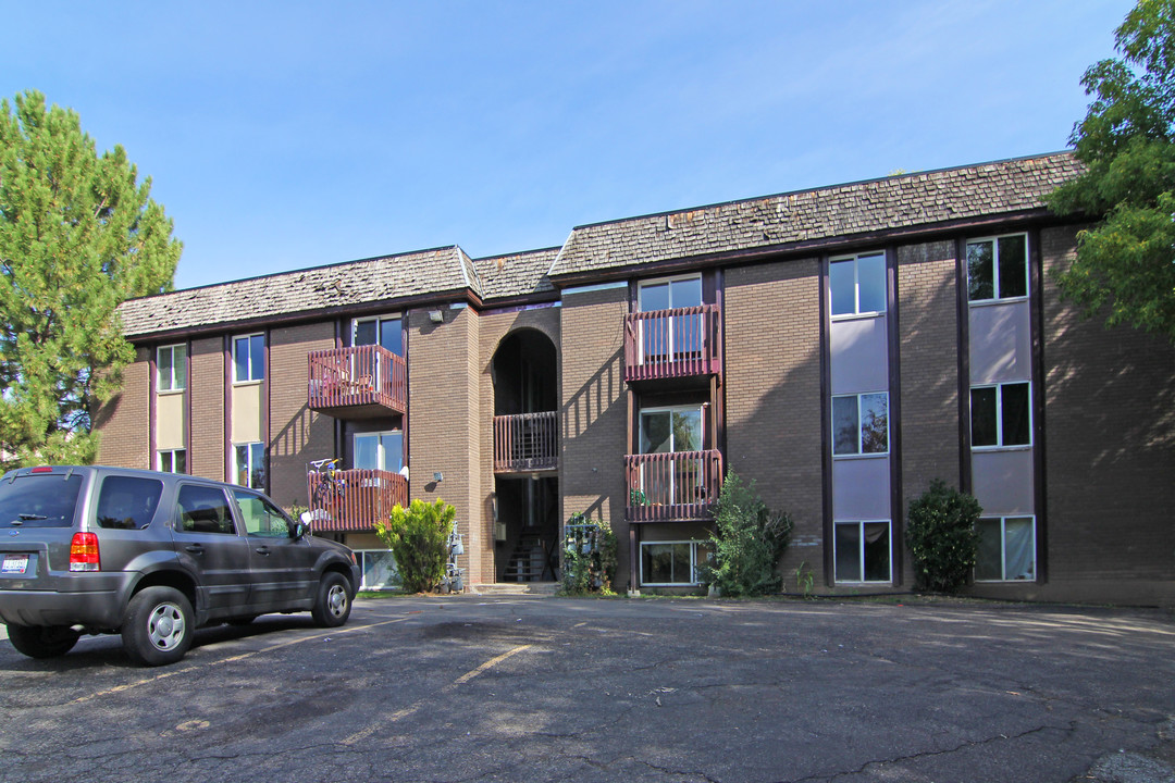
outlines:
[{"label": "tall dark arched entryway with a railing across its middle", "polygon": [[533,329],[494,353],[495,579],[555,581],[559,555],[558,362]]}]

